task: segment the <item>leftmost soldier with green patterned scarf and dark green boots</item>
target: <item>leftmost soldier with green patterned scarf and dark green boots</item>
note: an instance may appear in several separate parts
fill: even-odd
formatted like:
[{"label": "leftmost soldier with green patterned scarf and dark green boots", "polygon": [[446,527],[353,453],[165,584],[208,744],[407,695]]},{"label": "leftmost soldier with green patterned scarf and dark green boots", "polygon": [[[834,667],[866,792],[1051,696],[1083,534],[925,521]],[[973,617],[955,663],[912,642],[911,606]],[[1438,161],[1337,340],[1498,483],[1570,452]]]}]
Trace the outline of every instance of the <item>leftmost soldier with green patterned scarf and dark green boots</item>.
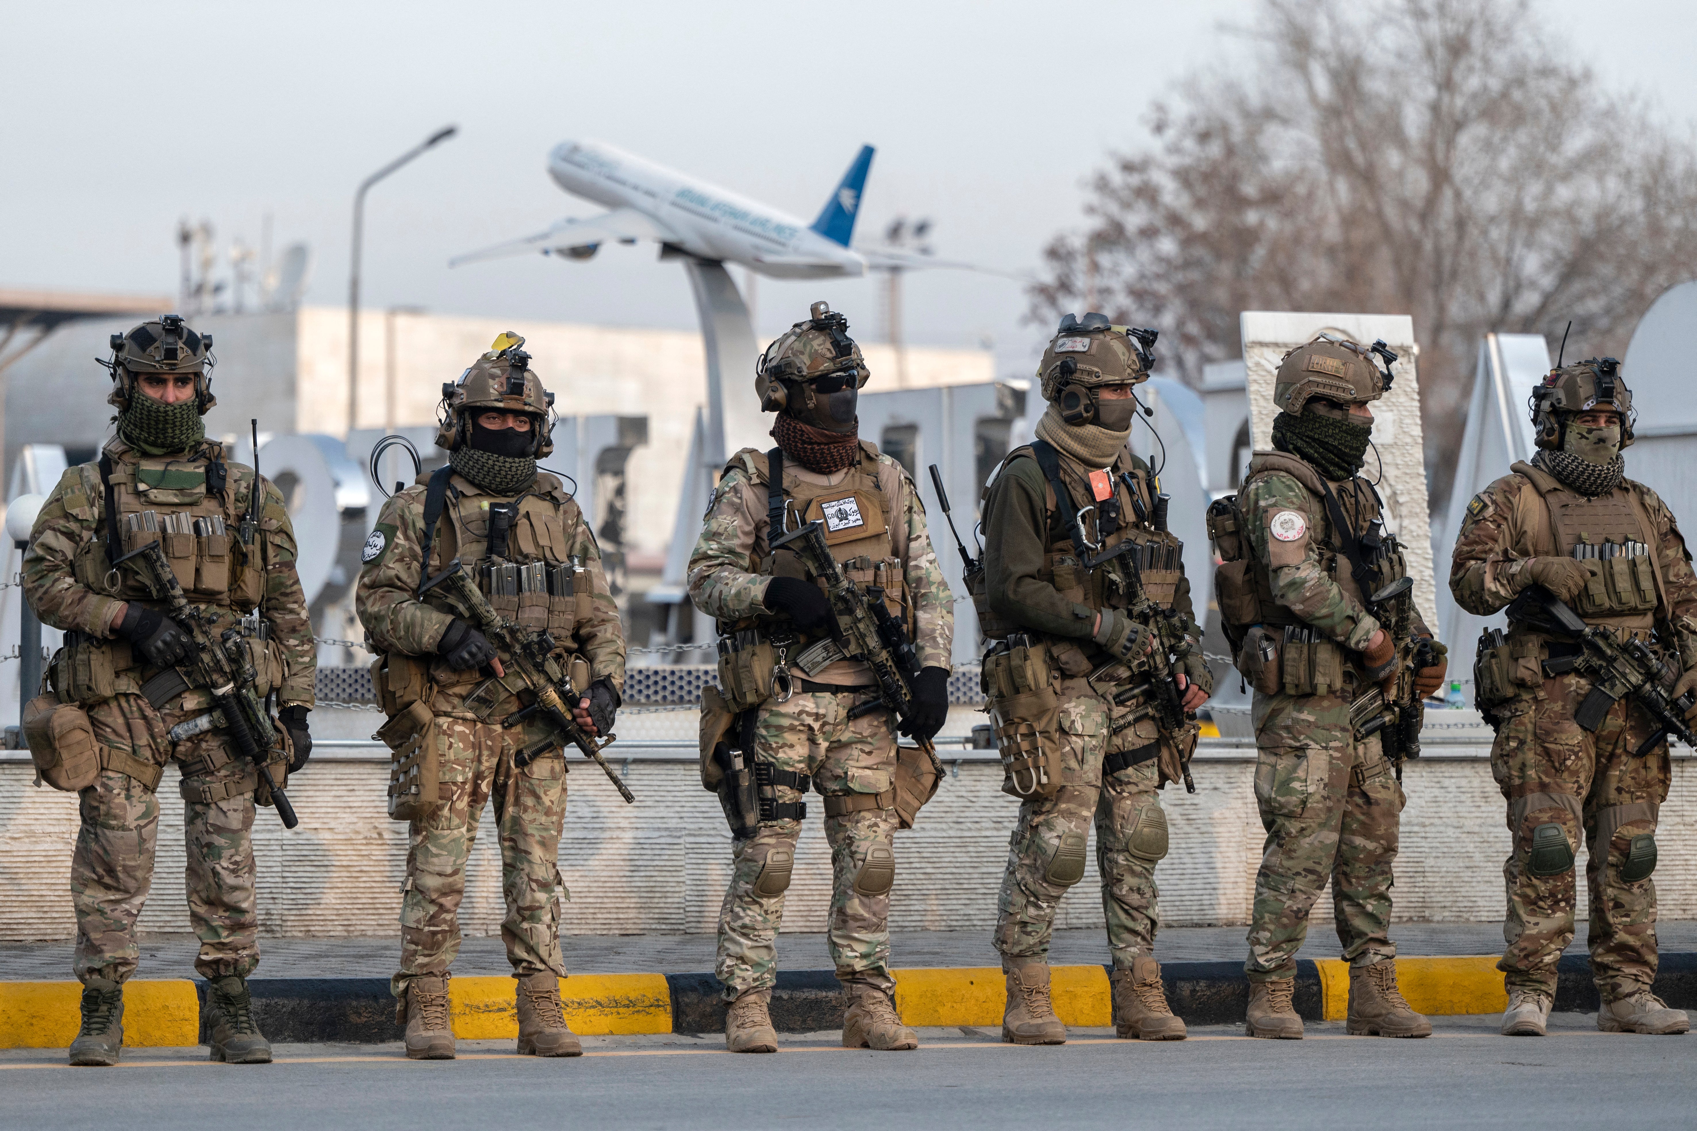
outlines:
[{"label": "leftmost soldier with green patterned scarf and dark green boots", "polygon": [[[81,1029],[73,1065],[115,1065],[124,1043],[122,983],[136,972],[136,917],[153,882],[165,763],[182,770],[188,919],[200,939],[195,970],[209,983],[212,1060],[266,1063],[248,975],[260,963],[255,907],[255,802],[270,805],[258,768],[219,727],[173,741],[168,731],[210,707],[176,663],[190,638],[131,566],[112,563],[148,541],[171,568],[214,638],[241,627],[258,695],[275,694],[292,749],[268,766],[282,785],[312,751],[316,648],[295,577],[295,534],[282,493],[263,480],[253,543],[236,538],[249,512],[253,468],[205,439],[212,339],[168,314],[114,334],[117,436],[100,460],[71,468],[36,517],[24,554],[24,595],[44,624],[64,629],[51,680],[59,702],[87,712],[100,773],[78,794],[81,829],[71,856]],[[256,614],[256,617],[255,617]]]}]

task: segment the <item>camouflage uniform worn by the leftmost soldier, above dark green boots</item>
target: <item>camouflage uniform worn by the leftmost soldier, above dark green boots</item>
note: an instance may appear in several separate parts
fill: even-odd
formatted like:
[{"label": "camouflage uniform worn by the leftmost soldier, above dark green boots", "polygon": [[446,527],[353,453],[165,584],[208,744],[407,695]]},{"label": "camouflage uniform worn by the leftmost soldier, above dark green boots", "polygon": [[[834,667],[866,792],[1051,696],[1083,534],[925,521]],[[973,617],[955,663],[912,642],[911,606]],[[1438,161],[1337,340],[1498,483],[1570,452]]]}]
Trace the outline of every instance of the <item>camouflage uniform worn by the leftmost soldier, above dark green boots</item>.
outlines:
[{"label": "camouflage uniform worn by the leftmost soldier, above dark green boots", "polygon": [[[146,456],[120,439],[104,453],[122,514],[222,517],[227,534],[221,539],[165,536],[173,568],[190,602],[210,612],[214,638],[258,607],[270,636],[268,644],[251,641],[258,690],[275,690],[283,707],[311,707],[316,646],[282,493],[265,483],[256,556],[238,573],[231,566],[241,551],[231,543],[248,510],[251,468],[226,463],[222,446],[210,441],[171,458]],[[214,490],[216,473],[207,476],[209,465],[226,470],[222,493]],[[134,534],[126,532],[124,549],[134,544]],[[83,705],[102,746],[100,778],[78,795],[81,829],[71,858],[78,980],[122,982],[136,972],[136,917],[148,899],[158,843],[154,788],[168,761],[183,773],[188,916],[200,939],[195,970],[205,978],[246,977],[260,961],[253,817],[255,790],[263,787],[222,731],[182,743],[168,738],[178,722],[207,712],[212,700],[205,690],[178,692],[158,707],[143,695],[143,683],[160,670],[115,639],[115,626],[126,602],[149,609],[163,602],[153,600],[127,566],[110,571],[98,461],[66,471],[42,505],[24,554],[24,593],[44,624],[66,631],[53,683],[61,700]],[[278,782],[285,765],[280,756],[270,766]]]}]

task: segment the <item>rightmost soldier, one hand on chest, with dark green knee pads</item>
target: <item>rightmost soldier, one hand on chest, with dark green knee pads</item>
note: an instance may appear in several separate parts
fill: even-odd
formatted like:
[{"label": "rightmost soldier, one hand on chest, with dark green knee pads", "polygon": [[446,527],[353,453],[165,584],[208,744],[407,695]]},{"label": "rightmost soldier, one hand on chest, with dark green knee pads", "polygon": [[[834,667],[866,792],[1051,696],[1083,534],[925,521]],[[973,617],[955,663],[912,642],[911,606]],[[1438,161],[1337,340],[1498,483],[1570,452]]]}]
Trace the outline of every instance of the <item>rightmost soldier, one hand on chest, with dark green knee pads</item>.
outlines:
[{"label": "rightmost soldier, one hand on chest, with dark green knee pads", "polygon": [[[1697,580],[1685,539],[1656,493],[1626,478],[1633,393],[1614,358],[1551,370],[1532,390],[1537,453],[1468,504],[1449,590],[1468,612],[1490,616],[1539,585],[1619,641],[1638,639],[1683,675],[1673,699],[1697,687]],[[1588,731],[1575,707],[1590,683],[1560,665],[1577,653],[1553,639],[1519,602],[1507,639],[1480,641],[1475,690],[1497,727],[1492,773],[1509,800],[1514,851],[1507,950],[1497,968],[1509,989],[1502,1031],[1543,1036],[1556,963],[1573,941],[1573,853],[1588,863],[1592,978],[1604,1033],[1685,1033],[1683,1011],[1649,992],[1656,978],[1656,812],[1668,795],[1668,746],[1641,749],[1655,722],[1629,699]],[[1492,646],[1495,644],[1495,646]],[[1549,666],[1546,666],[1549,665]],[[1556,671],[1551,666],[1558,668]]]}]

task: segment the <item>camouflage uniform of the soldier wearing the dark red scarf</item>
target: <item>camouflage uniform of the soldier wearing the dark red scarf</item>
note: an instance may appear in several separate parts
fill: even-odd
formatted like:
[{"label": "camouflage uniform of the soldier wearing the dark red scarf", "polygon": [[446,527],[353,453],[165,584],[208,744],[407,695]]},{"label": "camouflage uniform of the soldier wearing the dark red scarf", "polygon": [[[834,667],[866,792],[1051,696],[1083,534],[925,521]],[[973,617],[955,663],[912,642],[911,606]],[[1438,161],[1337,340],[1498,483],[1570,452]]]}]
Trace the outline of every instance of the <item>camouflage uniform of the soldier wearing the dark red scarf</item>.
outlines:
[{"label": "camouflage uniform of the soldier wearing the dark red scarf", "polygon": [[[760,563],[770,561],[767,466],[765,453],[736,453],[713,493],[701,539],[689,558],[691,600],[725,624],[765,616],[764,599],[772,582],[770,573],[760,571]],[[893,612],[908,621],[921,666],[947,668],[954,609],[932,551],[925,507],[908,473],[865,441],[860,441],[860,456],[848,471],[821,475],[784,463],[784,492],[798,500],[791,502],[796,510],[804,509],[799,500],[832,499],[837,493],[833,487],[854,480],[862,483],[862,514],[888,509],[888,546],[896,561],[888,563],[888,570],[886,563],[879,563],[876,577],[871,570],[862,575],[854,566],[848,573],[864,585],[876,580],[886,587],[896,605]],[[794,660],[792,655],[789,658]],[[896,812],[889,800],[877,795],[893,790],[896,736],[886,710],[854,721],[847,717],[852,707],[869,699],[864,688],[872,677],[865,665],[838,660],[809,680],[799,680],[798,673],[798,690],[786,702],[772,695],[759,704],[752,722],[753,758],[779,770],[811,775],[832,807],[833,797],[872,805],[825,819],[833,873],[828,938],[838,978],[889,994],[894,989],[889,973],[889,887],[864,894],[857,887],[879,885],[857,885],[857,877],[869,860],[894,866]],[[848,694],[826,687],[862,690]],[[801,792],[777,785],[776,800],[792,805],[801,800]],[[716,963],[726,1000],[776,983],[776,936],[784,916],[784,892],[759,890],[760,873],[774,853],[792,860],[799,836],[801,821],[781,817],[762,821],[759,833],[735,841],[731,883],[720,911]]]}]

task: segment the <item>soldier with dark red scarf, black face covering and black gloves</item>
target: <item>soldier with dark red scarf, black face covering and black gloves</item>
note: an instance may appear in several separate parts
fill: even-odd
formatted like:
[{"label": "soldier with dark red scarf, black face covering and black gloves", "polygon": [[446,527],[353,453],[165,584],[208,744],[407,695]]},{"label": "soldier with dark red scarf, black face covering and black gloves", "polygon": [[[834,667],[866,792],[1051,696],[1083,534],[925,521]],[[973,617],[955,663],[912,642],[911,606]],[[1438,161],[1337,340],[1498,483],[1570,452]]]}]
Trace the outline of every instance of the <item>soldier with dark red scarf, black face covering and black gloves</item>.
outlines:
[{"label": "soldier with dark red scarf, black face covering and black gloves", "polygon": [[[843,1045],[916,1048],[889,973],[889,889],[896,878],[896,734],[864,663],[816,663],[830,641],[830,602],[801,560],[772,553],[774,526],[823,519],[832,554],[862,587],[882,590],[918,649],[916,710],[901,733],[930,739],[949,714],[954,609],[920,493],[899,463],[859,439],[855,402],[869,371],[848,322],[816,302],[760,358],[755,390],[777,412],[777,448],[731,456],[689,558],[689,597],[720,624],[720,673],[738,712],[740,748],[762,783],[757,829],[731,850],[720,909],[718,977],[730,1002],[733,1053],[774,1053],[767,1004],[776,936],[809,785],[825,799],[832,846],[830,950],[848,999]],[[798,668],[796,673],[789,666]]]}]

